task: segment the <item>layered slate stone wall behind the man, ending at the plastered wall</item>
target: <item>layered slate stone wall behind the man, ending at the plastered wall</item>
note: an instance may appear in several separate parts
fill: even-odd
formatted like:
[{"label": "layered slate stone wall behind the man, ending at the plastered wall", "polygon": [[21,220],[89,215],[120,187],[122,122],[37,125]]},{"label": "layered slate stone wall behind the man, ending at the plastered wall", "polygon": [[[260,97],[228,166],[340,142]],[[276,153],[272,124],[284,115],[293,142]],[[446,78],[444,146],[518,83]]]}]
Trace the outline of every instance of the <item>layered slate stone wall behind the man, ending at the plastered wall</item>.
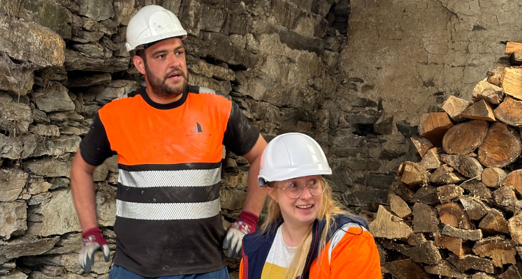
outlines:
[{"label": "layered slate stone wall behind the man, ending at the plastered wall", "polygon": [[[69,171],[99,108],[145,85],[124,39],[132,15],[149,4],[171,10],[187,29],[189,84],[229,95],[267,140],[300,132],[330,144],[324,131],[340,112],[321,103],[338,91],[345,98],[348,0],[1,1],[0,278],[108,278],[101,255],[90,274],[78,264]],[[226,228],[241,211],[249,165],[223,153]],[[112,251],[117,179],[115,157],[94,173]],[[238,261],[229,268],[237,278]]]}]

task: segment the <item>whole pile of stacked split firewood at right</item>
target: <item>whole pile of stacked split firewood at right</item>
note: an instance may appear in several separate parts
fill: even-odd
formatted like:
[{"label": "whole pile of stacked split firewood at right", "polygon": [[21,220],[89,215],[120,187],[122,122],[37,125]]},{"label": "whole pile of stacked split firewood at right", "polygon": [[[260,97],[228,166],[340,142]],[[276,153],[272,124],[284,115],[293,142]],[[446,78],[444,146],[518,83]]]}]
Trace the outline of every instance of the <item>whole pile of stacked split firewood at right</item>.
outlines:
[{"label": "whole pile of stacked split firewood at right", "polygon": [[421,159],[400,166],[370,224],[385,278],[521,279],[522,43],[506,54],[472,102],[421,117]]}]

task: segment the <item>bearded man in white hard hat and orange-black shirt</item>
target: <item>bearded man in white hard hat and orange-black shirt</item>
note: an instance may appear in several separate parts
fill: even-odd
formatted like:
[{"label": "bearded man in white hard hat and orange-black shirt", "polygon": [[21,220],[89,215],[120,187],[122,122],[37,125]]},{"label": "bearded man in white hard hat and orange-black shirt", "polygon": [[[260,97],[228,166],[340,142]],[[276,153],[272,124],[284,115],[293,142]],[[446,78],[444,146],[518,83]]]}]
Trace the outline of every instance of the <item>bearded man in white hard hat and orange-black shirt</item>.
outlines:
[{"label": "bearded man in white hard hat and orange-black shirt", "polygon": [[221,250],[222,145],[250,163],[247,197],[223,243],[238,257],[266,194],[257,185],[265,140],[238,105],[210,89],[188,86],[177,17],[145,6],[129,22],[127,50],[147,87],[99,110],[71,167],[71,189],[83,232],[80,265],[109,248],[96,218],[92,174],[117,154],[116,252],[110,278],[229,278]]}]

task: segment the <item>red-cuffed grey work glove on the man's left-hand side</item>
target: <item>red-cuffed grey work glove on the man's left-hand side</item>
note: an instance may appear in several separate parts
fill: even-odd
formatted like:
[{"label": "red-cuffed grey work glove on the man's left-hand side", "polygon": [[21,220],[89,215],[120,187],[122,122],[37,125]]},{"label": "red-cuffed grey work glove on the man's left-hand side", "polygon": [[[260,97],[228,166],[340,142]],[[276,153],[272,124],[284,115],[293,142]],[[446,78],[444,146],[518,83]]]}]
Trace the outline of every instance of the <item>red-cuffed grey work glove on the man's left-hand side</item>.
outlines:
[{"label": "red-cuffed grey work glove on the man's left-hand side", "polygon": [[99,227],[88,229],[82,234],[82,249],[80,250],[80,266],[82,266],[85,273],[91,272],[91,267],[94,264],[94,254],[96,251],[103,252],[103,258],[106,262],[109,261],[110,249],[107,241],[103,239]]}]

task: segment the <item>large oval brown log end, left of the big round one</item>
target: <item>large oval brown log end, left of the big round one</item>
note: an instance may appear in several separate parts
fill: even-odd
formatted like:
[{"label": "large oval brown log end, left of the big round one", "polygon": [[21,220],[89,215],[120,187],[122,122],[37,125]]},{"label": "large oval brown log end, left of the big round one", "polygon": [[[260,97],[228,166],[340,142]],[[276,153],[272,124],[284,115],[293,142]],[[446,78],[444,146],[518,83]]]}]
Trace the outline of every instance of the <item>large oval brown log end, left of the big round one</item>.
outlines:
[{"label": "large oval brown log end, left of the big round one", "polygon": [[442,147],[448,154],[466,155],[482,144],[487,132],[488,123],[484,120],[460,123],[447,131]]}]

